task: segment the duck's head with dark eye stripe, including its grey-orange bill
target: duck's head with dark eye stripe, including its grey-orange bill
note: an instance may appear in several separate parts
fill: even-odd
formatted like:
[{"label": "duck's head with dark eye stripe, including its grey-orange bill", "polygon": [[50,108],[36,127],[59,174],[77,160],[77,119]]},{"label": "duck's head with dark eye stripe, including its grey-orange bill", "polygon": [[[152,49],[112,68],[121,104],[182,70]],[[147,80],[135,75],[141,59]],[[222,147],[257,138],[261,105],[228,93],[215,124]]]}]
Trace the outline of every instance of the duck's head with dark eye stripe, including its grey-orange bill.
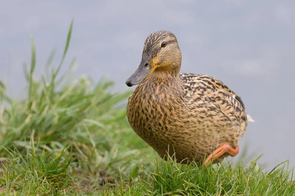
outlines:
[{"label": "duck's head with dark eye stripe, including its grey-orange bill", "polygon": [[180,65],[181,52],[176,36],[169,31],[156,31],[147,37],[142,61],[125,83],[134,86],[155,73],[177,76]]}]

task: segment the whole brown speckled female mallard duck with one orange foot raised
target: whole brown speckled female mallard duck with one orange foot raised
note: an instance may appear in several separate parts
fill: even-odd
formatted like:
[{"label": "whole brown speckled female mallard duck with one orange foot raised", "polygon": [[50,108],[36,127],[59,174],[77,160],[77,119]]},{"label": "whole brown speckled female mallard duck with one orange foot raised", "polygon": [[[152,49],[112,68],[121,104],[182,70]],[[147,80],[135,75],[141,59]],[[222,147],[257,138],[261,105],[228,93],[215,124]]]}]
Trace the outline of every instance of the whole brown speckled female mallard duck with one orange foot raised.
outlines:
[{"label": "whole brown speckled female mallard duck with one orange foot raised", "polygon": [[205,74],[180,73],[176,36],[156,31],[145,41],[138,69],[127,86],[138,86],[127,103],[133,130],[158,154],[177,162],[216,162],[236,156],[247,127],[240,97]]}]

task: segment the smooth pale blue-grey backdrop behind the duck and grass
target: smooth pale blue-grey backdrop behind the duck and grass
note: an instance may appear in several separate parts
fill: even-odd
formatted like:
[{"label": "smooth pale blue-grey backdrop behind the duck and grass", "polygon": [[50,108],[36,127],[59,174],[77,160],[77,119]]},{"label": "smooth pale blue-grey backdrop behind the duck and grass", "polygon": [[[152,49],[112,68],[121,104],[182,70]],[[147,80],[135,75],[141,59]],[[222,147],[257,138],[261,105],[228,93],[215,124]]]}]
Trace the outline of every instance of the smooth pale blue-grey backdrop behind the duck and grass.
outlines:
[{"label": "smooth pale blue-grey backdrop behind the duck and grass", "polygon": [[24,86],[21,62],[30,62],[30,34],[36,74],[42,73],[55,47],[59,63],[72,18],[61,71],[76,56],[76,76],[85,73],[97,81],[107,75],[116,90],[127,90],[124,81],[138,67],[148,34],[172,31],[182,52],[181,72],[222,80],[256,120],[249,123],[241,150],[248,143],[249,152],[264,153],[262,163],[273,166],[290,158],[295,165],[294,0],[3,1],[0,78],[9,79],[14,93]]}]

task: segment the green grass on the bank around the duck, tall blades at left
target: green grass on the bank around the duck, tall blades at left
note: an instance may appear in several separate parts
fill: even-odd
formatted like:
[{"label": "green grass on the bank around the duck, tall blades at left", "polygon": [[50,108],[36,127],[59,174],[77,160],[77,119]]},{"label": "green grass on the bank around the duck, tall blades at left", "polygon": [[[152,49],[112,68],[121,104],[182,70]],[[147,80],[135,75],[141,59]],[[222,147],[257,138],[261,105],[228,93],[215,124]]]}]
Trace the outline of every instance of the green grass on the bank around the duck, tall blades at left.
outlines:
[{"label": "green grass on the bank around the duck, tall blades at left", "polygon": [[[160,159],[131,129],[124,101],[112,82],[68,72],[58,77],[69,48],[72,25],[57,69],[50,55],[45,75],[24,65],[27,98],[9,98],[0,82],[0,194],[59,195],[294,195],[293,170],[285,164],[262,170],[222,163],[195,167]],[[50,72],[51,70],[51,72]],[[70,81],[70,82],[69,82]]]}]

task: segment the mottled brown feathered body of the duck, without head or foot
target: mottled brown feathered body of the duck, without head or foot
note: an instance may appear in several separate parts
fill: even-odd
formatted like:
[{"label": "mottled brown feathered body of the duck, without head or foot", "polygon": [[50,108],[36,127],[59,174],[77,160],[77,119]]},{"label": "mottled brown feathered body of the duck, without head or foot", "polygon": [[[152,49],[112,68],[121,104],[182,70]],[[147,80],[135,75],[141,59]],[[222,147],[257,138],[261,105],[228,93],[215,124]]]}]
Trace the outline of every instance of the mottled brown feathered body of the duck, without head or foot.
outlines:
[{"label": "mottled brown feathered body of the duck, without head or foot", "polygon": [[161,157],[169,145],[178,161],[200,161],[223,143],[236,147],[247,126],[241,99],[203,74],[180,74],[177,80],[149,77],[130,96],[127,117]]}]

